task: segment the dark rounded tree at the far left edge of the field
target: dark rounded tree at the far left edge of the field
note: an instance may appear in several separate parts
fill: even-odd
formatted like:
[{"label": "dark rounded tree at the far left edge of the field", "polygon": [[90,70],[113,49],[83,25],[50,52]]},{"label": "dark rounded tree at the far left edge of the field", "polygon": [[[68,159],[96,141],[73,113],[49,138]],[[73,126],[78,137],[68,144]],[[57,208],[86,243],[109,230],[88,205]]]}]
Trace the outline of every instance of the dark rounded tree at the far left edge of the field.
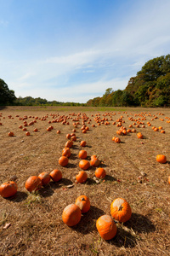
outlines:
[{"label": "dark rounded tree at the far left edge of the field", "polygon": [[0,105],[14,105],[15,99],[14,90],[9,90],[8,85],[0,79]]}]

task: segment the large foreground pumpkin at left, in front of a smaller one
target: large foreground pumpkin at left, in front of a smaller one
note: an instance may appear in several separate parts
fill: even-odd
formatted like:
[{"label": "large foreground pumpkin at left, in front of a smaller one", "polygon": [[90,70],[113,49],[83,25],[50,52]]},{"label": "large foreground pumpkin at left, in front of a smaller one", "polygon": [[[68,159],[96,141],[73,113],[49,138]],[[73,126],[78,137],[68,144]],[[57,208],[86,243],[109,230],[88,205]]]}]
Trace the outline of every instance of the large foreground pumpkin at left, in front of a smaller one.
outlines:
[{"label": "large foreground pumpkin at left, in front of a smaller one", "polygon": [[71,204],[65,207],[62,213],[63,222],[70,227],[78,224],[81,220],[81,217],[81,209],[75,204]]}]

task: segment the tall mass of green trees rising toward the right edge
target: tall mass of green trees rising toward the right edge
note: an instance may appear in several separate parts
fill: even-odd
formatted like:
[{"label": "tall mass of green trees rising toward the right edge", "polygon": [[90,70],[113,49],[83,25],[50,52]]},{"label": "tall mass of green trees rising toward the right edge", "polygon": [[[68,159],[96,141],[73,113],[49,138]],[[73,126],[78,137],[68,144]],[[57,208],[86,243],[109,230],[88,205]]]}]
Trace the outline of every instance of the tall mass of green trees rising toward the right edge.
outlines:
[{"label": "tall mass of green trees rising toward the right edge", "polygon": [[[94,100],[87,104],[94,106]],[[108,88],[95,106],[170,107],[170,55],[147,61],[125,90]]]}]

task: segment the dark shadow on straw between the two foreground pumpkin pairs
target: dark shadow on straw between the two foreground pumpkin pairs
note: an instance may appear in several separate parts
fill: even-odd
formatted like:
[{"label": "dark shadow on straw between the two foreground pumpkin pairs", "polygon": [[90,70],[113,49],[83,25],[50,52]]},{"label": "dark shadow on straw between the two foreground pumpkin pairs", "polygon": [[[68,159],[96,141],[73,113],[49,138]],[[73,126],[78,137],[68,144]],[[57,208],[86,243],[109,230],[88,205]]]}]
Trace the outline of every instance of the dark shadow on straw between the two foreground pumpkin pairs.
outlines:
[{"label": "dark shadow on straw between the two foreground pumpkin pairs", "polygon": [[71,227],[71,229],[86,235],[96,229],[96,220],[104,214],[105,212],[103,210],[91,206],[88,212],[82,214],[80,222]]}]

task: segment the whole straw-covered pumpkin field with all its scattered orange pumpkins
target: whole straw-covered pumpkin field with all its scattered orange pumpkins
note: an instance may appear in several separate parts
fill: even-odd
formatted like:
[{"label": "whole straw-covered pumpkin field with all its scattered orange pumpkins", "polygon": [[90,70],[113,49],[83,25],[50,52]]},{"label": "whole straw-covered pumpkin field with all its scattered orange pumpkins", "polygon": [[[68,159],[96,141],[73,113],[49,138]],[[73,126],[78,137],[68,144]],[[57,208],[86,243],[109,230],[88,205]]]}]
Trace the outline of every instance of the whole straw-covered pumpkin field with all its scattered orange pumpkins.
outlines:
[{"label": "whole straw-covered pumpkin field with all its scattered orange pumpkins", "polygon": [[168,254],[166,109],[14,109],[0,114],[1,184],[17,183],[0,186],[0,253]]}]

